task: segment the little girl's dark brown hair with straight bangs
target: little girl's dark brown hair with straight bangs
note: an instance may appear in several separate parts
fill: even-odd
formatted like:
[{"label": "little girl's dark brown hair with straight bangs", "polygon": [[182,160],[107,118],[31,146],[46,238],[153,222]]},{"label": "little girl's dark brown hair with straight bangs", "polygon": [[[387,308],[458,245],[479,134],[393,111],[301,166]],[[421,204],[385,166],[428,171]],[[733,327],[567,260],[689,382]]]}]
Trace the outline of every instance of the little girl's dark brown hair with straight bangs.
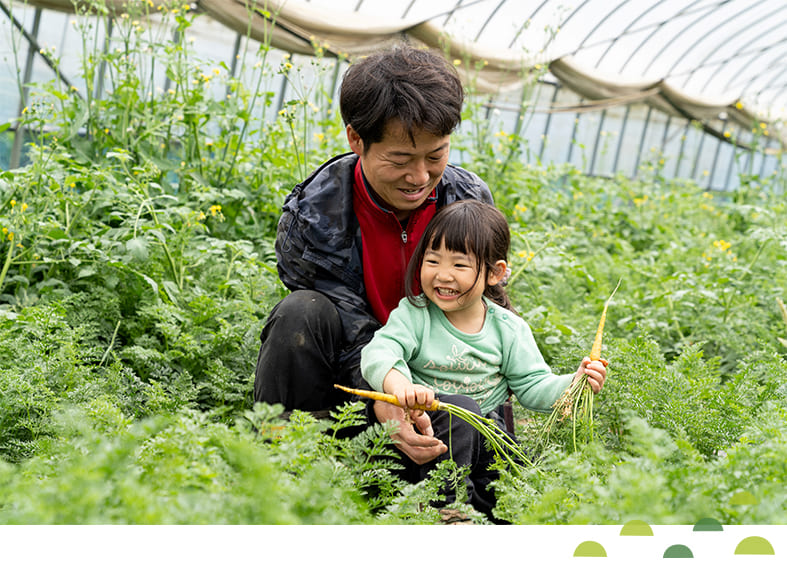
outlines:
[{"label": "little girl's dark brown hair with straight bangs", "polygon": [[[497,208],[478,200],[460,200],[438,210],[427,225],[407,266],[405,291],[414,305],[423,306],[417,297],[420,295],[424,255],[427,250],[439,249],[441,244],[449,251],[474,255],[478,261],[478,281],[482,272],[488,274],[495,269],[497,261],[508,261],[511,246],[508,221]],[[484,296],[514,311],[502,281],[492,287],[486,286]]]}]

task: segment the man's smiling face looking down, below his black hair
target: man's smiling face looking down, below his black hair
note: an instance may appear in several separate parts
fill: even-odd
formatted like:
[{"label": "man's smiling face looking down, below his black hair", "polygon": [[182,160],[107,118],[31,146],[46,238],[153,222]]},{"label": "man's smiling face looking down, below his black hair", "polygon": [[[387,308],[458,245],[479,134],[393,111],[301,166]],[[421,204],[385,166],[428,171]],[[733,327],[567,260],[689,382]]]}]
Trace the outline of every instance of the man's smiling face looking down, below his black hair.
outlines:
[{"label": "man's smiling face looking down, below his black hair", "polygon": [[415,144],[399,122],[390,122],[383,139],[365,147],[347,126],[350,148],[361,157],[361,169],[381,204],[400,220],[432,194],[448,164],[450,136],[415,130]]}]

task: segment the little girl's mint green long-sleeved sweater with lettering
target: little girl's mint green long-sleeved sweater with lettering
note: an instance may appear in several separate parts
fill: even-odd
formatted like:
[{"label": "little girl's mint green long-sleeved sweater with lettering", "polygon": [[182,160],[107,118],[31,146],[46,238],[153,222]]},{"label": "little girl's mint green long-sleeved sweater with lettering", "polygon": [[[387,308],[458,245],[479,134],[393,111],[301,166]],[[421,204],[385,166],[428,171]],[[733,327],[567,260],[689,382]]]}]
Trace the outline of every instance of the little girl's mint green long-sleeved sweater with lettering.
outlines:
[{"label": "little girl's mint green long-sleeved sweater with lettering", "polygon": [[[486,298],[484,298],[486,301]],[[472,397],[483,414],[513,391],[523,407],[548,412],[571,384],[573,374],[555,375],[538,350],[528,324],[490,301],[481,332],[457,330],[445,313],[407,298],[391,312],[361,352],[361,372],[377,391],[391,368],[413,383],[442,394]]]}]

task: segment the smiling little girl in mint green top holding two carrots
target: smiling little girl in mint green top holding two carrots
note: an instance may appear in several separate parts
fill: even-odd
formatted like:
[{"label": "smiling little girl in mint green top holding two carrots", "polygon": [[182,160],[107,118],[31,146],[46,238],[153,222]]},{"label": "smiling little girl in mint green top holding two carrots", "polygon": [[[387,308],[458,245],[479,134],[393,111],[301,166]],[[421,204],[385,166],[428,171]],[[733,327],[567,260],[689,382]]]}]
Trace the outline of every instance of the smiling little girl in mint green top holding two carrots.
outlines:
[{"label": "smiling little girl in mint green top holding two carrots", "polygon": [[[585,358],[576,373],[555,375],[544,361],[503,287],[509,246],[508,223],[494,206],[459,201],[435,215],[410,261],[407,296],[362,351],[361,371],[372,388],[410,410],[430,405],[437,394],[501,428],[497,409],[509,392],[524,407],[548,412],[582,374],[595,393],[601,390],[603,362]],[[408,479],[420,481],[437,461],[452,457],[469,467],[469,502],[492,517],[493,453],[461,419],[442,411],[430,417],[436,437],[448,444],[450,436],[451,454],[423,465],[406,461]]]}]

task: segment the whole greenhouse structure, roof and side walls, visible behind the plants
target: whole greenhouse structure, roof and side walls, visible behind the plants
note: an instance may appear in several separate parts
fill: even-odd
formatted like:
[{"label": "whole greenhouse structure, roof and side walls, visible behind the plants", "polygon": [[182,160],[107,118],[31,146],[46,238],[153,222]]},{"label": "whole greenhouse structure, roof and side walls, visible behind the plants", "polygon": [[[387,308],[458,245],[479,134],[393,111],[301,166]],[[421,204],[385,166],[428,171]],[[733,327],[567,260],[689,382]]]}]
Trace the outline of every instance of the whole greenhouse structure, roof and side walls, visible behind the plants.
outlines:
[{"label": "whole greenhouse structure, roof and side walls, visible behind the plants", "polygon": [[[107,1],[116,12],[124,4]],[[734,188],[742,172],[781,176],[783,0],[198,0],[192,8],[226,45],[222,60],[233,73],[244,42],[270,41],[294,58],[320,46],[335,57],[329,92],[348,60],[381,46],[407,40],[441,49],[472,80],[490,120],[520,135],[533,161],[629,176],[657,163],[664,175],[719,190]],[[70,17],[71,0],[0,0],[0,9],[2,32],[26,43],[25,82],[54,72],[79,83],[39,45],[49,34],[42,16],[50,26]],[[282,81],[279,107],[286,88]],[[17,95],[0,124],[23,106]],[[18,148],[2,159],[0,166],[18,165]]]}]

